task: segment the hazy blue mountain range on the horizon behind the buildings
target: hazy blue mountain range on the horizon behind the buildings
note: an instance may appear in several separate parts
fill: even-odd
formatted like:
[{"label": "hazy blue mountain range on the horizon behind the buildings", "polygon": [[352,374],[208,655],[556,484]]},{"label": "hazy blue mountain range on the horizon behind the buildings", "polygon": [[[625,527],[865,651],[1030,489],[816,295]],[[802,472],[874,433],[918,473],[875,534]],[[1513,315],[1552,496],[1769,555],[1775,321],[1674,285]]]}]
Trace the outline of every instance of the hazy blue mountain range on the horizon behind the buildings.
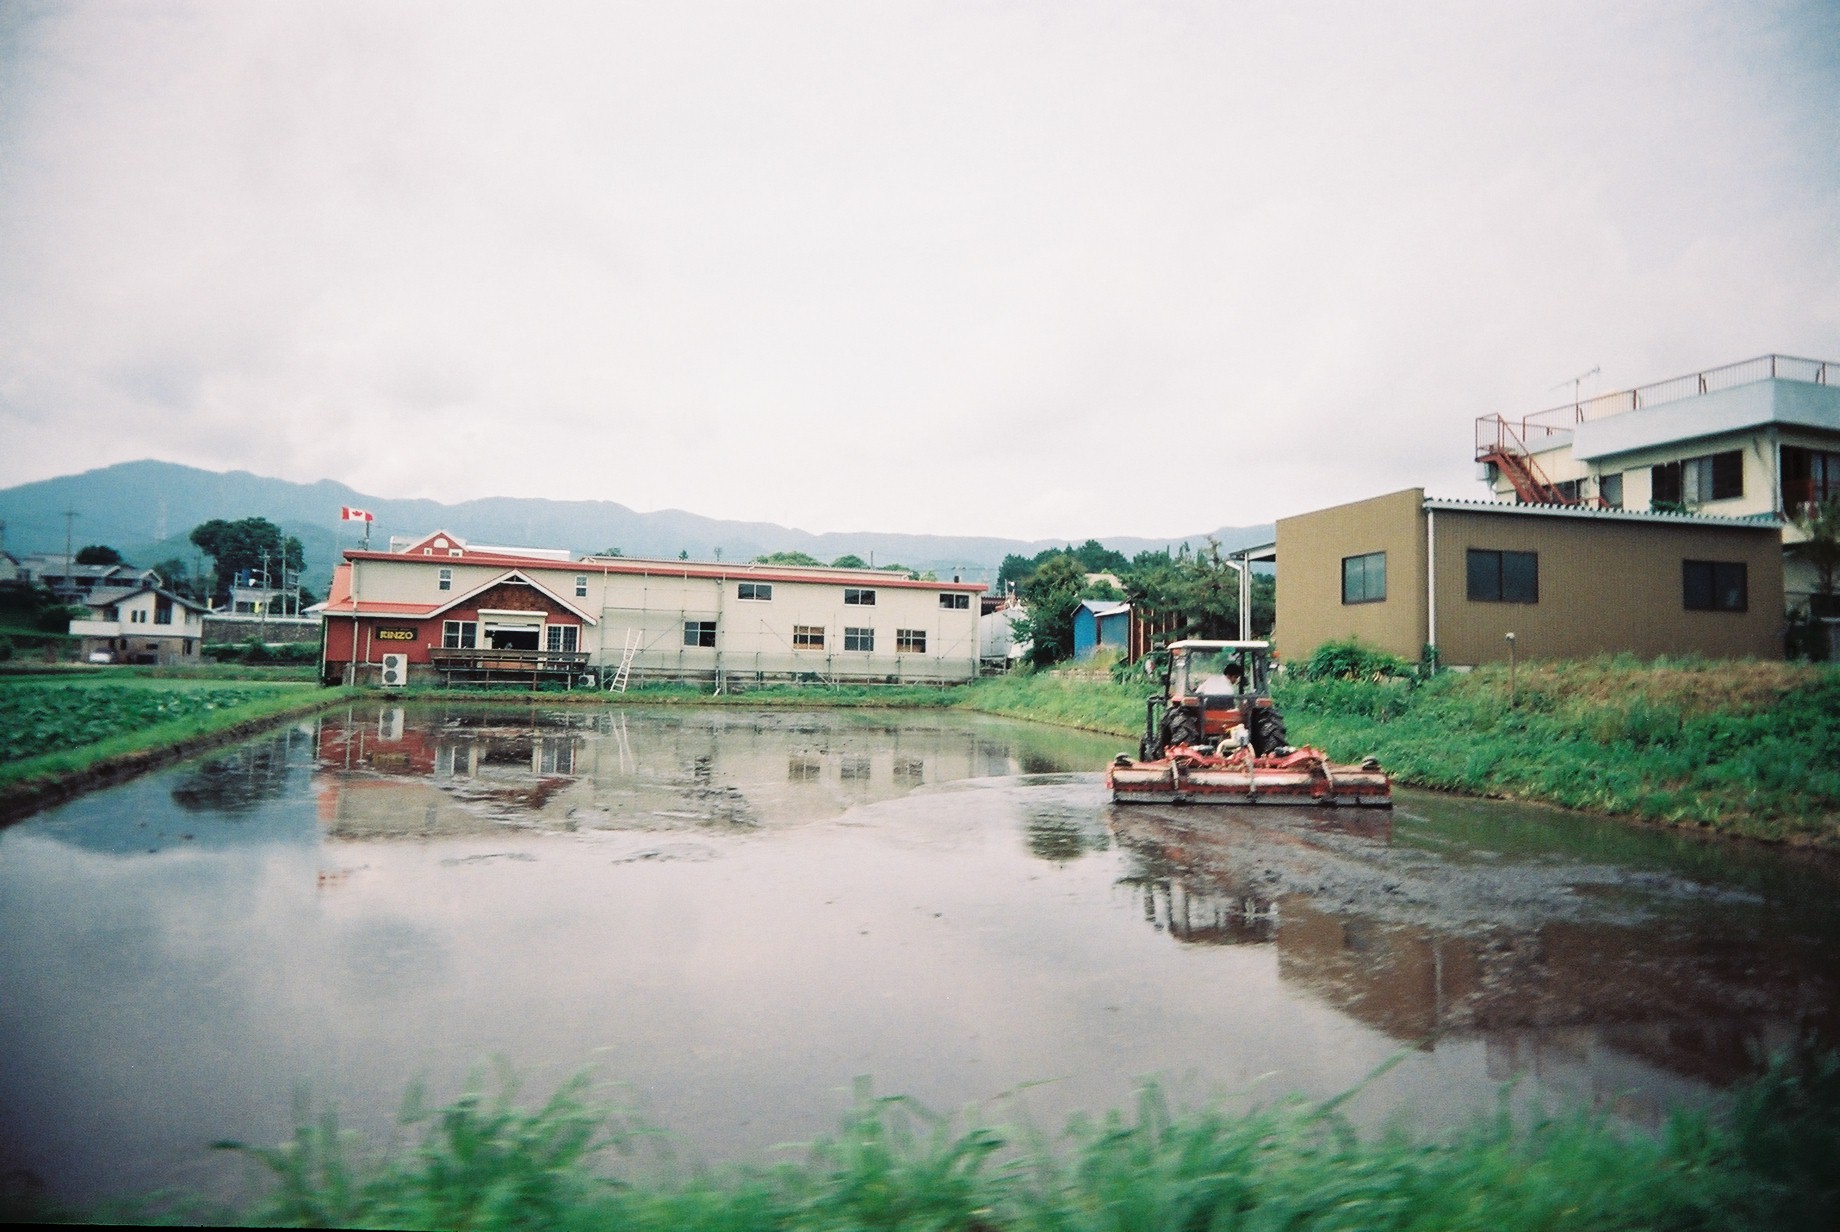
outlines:
[{"label": "hazy blue mountain range on the horizon behind the buildings", "polygon": [[[449,530],[462,539],[523,548],[569,548],[589,553],[620,548],[626,555],[751,561],[767,552],[806,552],[821,561],[854,553],[876,565],[902,563],[940,577],[992,581],[1003,557],[1034,555],[1065,546],[1065,539],[995,539],[973,535],[894,535],[878,531],[810,531],[773,522],[725,522],[659,509],[638,513],[613,500],[537,500],[482,496],[462,504],[372,496],[333,480],[293,484],[248,471],[201,471],[173,462],[123,462],[83,474],[0,489],[0,522],[15,555],[64,550],[64,511],[77,513],[74,546],[103,542],[136,565],[167,557],[191,561],[188,535],[210,519],[265,517],[307,550],[307,587],[324,594],[340,548],[361,537],[359,524],[339,520],[340,506],[368,509],[372,546],[388,548],[390,535]],[[1108,548],[1135,555],[1170,544],[1203,544],[1209,535],[1224,548],[1266,542],[1271,526],[1224,526],[1170,539],[1102,537]],[[1084,542],[1082,535],[1073,542]]]}]

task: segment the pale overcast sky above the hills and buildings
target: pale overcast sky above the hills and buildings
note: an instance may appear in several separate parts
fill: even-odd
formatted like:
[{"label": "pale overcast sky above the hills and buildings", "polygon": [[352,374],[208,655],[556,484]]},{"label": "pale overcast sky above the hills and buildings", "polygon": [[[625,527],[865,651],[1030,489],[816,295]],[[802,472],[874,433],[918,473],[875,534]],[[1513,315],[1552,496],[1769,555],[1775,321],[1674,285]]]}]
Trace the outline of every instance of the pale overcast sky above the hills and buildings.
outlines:
[{"label": "pale overcast sky above the hills and buildings", "polygon": [[1157,537],[1766,351],[1834,0],[0,0],[0,485]]}]

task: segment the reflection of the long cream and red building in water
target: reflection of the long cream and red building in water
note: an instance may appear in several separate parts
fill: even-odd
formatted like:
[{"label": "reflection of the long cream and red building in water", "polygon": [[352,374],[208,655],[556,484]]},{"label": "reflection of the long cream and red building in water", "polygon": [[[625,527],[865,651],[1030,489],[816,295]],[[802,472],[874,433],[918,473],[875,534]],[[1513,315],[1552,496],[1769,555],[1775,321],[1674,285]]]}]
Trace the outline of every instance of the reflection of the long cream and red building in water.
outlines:
[{"label": "reflection of the long cream and red building in water", "polygon": [[907,715],[512,713],[381,706],[328,715],[322,820],[372,837],[800,824],[1049,756],[966,723]]}]

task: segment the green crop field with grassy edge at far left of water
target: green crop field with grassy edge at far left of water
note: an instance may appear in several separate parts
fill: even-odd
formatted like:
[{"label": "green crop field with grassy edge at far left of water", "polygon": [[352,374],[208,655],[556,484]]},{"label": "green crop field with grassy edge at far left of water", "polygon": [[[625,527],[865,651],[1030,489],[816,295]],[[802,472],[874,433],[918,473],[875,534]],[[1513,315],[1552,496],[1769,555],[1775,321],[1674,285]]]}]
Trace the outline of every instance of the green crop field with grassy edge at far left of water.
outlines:
[{"label": "green crop field with grassy edge at far left of water", "polygon": [[0,811],[35,807],[344,695],[298,680],[120,671],[0,677]]}]

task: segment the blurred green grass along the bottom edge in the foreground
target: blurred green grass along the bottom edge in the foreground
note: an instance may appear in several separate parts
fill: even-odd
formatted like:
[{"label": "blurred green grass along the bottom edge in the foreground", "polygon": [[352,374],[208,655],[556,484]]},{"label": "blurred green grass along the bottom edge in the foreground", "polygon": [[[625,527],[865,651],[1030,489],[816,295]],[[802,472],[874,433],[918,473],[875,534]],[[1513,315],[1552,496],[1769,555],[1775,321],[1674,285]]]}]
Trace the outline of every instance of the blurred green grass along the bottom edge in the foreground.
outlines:
[{"label": "blurred green grass along the bottom edge in the foreground", "polygon": [[[18,1203],[15,1219],[388,1228],[1779,1228],[1840,1221],[1840,1063],[1777,1061],[1719,1112],[1656,1135],[1595,1112],[1505,1112],[1443,1138],[1362,1136],[1343,1100],[1249,1112],[1170,1111],[1152,1089],[1128,1114],[1049,1136],[962,1124],[867,1087],[804,1158],[683,1175],[633,1164],[653,1135],[609,1116],[585,1079],[541,1109],[473,1092],[405,1103],[405,1146],[366,1157],[328,1114],[278,1147],[245,1147],[269,1179],[243,1210],[164,1195],[90,1212]],[[620,1179],[600,1158],[627,1155]],[[668,1158],[668,1153],[666,1153]]]}]

